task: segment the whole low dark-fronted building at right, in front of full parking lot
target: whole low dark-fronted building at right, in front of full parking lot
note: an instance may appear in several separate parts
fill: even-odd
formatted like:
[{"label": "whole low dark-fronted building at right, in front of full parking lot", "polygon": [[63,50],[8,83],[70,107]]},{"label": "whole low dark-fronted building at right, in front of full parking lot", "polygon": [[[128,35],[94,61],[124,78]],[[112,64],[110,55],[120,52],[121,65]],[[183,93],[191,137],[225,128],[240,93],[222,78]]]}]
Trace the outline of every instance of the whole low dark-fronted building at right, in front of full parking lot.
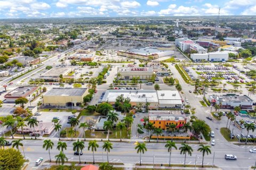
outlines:
[{"label": "whole low dark-fronted building at right, in front of full parking lot", "polygon": [[208,100],[211,101],[213,105],[221,104],[221,108],[235,108],[239,106],[242,109],[252,109],[253,106],[253,100],[246,95],[210,95]]}]

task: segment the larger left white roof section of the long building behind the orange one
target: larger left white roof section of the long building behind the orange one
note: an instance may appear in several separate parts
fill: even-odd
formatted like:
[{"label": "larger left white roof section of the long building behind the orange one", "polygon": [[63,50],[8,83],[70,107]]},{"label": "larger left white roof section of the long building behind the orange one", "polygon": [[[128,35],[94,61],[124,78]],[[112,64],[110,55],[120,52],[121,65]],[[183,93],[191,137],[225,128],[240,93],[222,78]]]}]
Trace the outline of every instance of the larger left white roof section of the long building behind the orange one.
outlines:
[{"label": "larger left white roof section of the long building behind the orange one", "polygon": [[107,90],[102,101],[115,102],[120,95],[129,97],[131,102],[158,103],[156,90]]}]

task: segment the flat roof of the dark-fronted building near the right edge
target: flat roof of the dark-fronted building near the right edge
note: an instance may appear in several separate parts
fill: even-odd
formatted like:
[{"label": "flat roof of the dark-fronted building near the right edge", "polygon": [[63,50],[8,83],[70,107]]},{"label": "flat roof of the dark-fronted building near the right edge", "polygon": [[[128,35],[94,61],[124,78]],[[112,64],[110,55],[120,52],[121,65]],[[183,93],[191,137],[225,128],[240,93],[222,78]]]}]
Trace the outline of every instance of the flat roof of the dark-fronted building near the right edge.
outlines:
[{"label": "flat roof of the dark-fronted building near the right edge", "polygon": [[227,95],[211,95],[210,96],[213,99],[216,99],[217,101],[233,101],[233,102],[251,102],[253,101],[251,98],[248,96],[239,96],[239,95],[234,95],[234,94],[227,94]]}]

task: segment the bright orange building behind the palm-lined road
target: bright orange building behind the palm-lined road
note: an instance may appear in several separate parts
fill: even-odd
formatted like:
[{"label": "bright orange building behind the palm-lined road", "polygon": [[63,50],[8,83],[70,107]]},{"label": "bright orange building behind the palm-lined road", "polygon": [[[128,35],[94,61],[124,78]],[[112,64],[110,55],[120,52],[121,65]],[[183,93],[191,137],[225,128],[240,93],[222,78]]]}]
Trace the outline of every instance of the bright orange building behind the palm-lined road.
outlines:
[{"label": "bright orange building behind the palm-lined road", "polygon": [[155,113],[149,115],[149,122],[153,123],[155,128],[167,130],[171,124],[175,124],[177,128],[182,127],[187,122],[187,118],[183,115]]}]

